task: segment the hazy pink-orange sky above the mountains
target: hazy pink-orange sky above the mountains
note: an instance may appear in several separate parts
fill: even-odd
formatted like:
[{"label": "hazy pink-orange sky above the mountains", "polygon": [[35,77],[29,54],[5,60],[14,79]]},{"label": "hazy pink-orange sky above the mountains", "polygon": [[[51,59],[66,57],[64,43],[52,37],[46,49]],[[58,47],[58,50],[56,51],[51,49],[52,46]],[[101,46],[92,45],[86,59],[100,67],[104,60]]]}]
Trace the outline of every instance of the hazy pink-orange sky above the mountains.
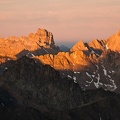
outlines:
[{"label": "hazy pink-orange sky above the mountains", "polygon": [[38,28],[52,32],[56,44],[107,39],[120,30],[120,0],[0,0],[0,37]]}]

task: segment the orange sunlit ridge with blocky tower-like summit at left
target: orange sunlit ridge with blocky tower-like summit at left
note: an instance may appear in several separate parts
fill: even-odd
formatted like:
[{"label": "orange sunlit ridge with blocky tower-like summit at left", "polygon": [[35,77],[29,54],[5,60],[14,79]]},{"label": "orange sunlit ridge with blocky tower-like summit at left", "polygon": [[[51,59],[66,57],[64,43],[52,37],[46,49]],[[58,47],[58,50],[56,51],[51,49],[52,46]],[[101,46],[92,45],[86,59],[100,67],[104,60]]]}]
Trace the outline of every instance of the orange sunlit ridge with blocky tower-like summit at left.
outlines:
[{"label": "orange sunlit ridge with blocky tower-like summit at left", "polygon": [[45,29],[38,29],[36,33],[30,33],[28,37],[9,37],[0,39],[0,55],[20,58],[32,54],[56,54],[59,51],[55,45],[53,34]]}]

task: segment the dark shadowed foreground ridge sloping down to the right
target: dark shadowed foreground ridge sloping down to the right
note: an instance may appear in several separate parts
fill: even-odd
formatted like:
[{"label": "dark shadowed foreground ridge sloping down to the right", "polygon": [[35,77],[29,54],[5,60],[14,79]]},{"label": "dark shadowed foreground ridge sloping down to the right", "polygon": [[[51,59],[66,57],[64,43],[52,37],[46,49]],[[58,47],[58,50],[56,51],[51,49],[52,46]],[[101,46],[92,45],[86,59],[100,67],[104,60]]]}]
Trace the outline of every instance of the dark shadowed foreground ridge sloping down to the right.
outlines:
[{"label": "dark shadowed foreground ridge sloping down to the right", "polygon": [[1,120],[119,120],[120,95],[83,91],[49,65],[26,56],[0,76]]}]

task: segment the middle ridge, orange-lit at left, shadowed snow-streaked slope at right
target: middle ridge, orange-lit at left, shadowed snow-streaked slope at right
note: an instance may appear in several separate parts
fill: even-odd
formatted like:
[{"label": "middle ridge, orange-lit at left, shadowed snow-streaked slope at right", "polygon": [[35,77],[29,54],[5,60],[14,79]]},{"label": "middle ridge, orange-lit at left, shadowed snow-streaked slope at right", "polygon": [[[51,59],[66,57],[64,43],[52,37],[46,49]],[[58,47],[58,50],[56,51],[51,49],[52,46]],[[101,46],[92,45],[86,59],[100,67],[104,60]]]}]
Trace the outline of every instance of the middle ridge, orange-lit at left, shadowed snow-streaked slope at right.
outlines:
[{"label": "middle ridge, orange-lit at left, shadowed snow-streaked slope at right", "polygon": [[62,76],[78,82],[83,89],[102,87],[105,90],[120,91],[120,54],[114,51],[106,50],[99,57],[75,51],[36,58],[60,71]]}]

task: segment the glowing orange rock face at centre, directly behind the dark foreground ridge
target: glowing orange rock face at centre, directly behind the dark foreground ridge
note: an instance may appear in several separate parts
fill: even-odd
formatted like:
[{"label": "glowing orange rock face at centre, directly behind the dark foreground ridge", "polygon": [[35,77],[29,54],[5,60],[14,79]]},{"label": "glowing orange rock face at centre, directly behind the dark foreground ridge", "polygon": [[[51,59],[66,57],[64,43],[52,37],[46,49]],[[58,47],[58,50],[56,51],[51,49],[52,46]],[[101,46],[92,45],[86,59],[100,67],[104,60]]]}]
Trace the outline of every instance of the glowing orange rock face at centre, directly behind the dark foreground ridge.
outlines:
[{"label": "glowing orange rock face at centre, directly behind the dark foreground ridge", "polygon": [[82,51],[59,52],[57,55],[47,54],[36,57],[44,64],[49,64],[56,70],[79,71],[89,66],[91,63]]}]

